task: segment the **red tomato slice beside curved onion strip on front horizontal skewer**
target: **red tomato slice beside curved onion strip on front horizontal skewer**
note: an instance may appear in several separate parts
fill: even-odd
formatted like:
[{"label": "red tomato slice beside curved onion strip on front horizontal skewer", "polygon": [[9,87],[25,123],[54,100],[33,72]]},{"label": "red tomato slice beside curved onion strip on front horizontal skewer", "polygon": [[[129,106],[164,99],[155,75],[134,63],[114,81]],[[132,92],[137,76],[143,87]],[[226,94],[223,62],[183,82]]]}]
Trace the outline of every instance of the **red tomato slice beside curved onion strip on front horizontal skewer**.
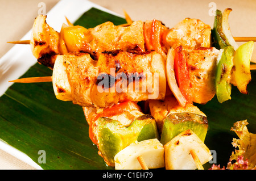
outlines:
[{"label": "red tomato slice beside curved onion strip on front horizontal skewer", "polygon": [[182,51],[182,46],[175,48],[174,71],[181,94],[187,100],[187,104],[191,104],[193,102],[193,91],[189,79],[186,57],[185,53]]}]

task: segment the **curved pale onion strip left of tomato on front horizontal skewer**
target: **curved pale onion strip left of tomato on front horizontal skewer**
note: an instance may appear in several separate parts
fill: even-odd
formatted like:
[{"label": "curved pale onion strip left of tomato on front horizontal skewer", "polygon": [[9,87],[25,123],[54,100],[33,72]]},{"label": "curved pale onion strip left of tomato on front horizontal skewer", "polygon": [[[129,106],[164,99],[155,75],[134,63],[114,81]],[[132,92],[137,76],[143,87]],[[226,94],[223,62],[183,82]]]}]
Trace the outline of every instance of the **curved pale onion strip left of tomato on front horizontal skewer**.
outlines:
[{"label": "curved pale onion strip left of tomato on front horizontal skewer", "polygon": [[166,73],[167,73],[167,82],[172,93],[174,94],[175,98],[179,102],[180,106],[184,107],[187,100],[181,94],[181,91],[177,86],[175,73],[174,73],[174,49],[173,48],[169,49],[167,53]]}]

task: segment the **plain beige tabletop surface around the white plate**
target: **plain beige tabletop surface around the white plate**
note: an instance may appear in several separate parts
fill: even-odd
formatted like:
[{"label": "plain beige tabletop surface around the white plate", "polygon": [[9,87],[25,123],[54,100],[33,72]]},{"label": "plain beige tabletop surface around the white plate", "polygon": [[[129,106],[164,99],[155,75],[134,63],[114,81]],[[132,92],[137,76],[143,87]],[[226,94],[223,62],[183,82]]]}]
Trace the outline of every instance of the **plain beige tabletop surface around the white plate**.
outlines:
[{"label": "plain beige tabletop surface around the white plate", "polygon": [[[38,3],[46,3],[46,11],[51,10],[57,0],[0,0],[0,57],[12,44],[7,41],[19,40],[32,27],[38,14]],[[162,20],[167,27],[173,27],[184,18],[197,18],[213,25],[213,16],[209,15],[209,3],[214,2],[217,9],[226,7],[233,11],[229,16],[229,24],[233,36],[256,36],[256,1],[206,0],[206,1],[155,1],[155,0],[91,0],[100,6],[123,15],[126,10],[133,20]],[[239,43],[241,44],[241,43]],[[254,51],[253,59],[256,60]],[[19,159],[0,150],[0,169],[34,169]]]}]

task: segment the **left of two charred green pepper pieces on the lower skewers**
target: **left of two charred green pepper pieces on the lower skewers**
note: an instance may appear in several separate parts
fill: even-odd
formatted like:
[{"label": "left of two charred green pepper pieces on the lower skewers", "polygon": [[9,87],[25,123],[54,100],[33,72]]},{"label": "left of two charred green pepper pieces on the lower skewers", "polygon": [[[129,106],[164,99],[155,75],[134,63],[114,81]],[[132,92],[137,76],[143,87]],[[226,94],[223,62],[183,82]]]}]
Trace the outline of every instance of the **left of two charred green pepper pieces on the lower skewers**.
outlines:
[{"label": "left of two charred green pepper pieces on the lower skewers", "polygon": [[109,166],[115,165],[115,154],[131,143],[159,139],[158,128],[151,115],[137,117],[128,127],[117,120],[100,117],[93,124],[92,131],[96,136],[99,154]]}]

